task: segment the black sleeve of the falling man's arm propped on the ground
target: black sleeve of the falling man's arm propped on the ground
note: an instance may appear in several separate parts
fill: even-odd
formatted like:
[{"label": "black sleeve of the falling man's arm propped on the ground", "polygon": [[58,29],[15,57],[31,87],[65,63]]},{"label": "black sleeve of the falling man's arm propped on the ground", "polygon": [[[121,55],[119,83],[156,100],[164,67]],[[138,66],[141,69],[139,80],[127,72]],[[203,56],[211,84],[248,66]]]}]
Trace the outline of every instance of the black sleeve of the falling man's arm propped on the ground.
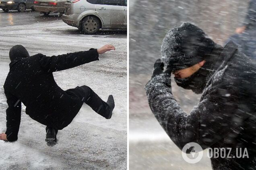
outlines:
[{"label": "black sleeve of the falling man's arm propped on the ground", "polygon": [[18,132],[21,123],[21,101],[11,93],[4,92],[7,98],[8,108],[6,109],[6,136],[12,142],[18,139]]}]

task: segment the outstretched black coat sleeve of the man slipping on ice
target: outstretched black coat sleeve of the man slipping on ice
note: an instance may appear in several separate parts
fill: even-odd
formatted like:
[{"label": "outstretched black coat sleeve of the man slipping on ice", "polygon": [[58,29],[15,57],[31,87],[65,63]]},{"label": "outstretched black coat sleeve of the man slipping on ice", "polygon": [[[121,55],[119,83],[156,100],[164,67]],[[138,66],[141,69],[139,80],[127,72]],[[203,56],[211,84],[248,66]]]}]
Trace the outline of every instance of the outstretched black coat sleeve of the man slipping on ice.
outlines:
[{"label": "outstretched black coat sleeve of the man slipping on ice", "polygon": [[39,62],[47,72],[61,71],[99,60],[97,49],[47,57],[42,55]]}]

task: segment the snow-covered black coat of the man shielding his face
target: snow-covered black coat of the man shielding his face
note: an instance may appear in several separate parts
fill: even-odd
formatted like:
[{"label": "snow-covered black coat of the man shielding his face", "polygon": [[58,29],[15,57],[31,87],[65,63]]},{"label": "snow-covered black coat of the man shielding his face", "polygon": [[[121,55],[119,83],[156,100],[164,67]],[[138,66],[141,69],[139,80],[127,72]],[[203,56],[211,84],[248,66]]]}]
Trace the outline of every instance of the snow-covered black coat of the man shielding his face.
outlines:
[{"label": "snow-covered black coat of the man shielding his face", "polygon": [[196,142],[203,149],[232,148],[233,157],[235,148],[247,148],[249,158],[211,158],[214,170],[256,169],[255,61],[237,51],[233,42],[215,58],[200,102],[189,115],[174,99],[171,78],[165,73],[145,87],[150,108],[181,150]]}]

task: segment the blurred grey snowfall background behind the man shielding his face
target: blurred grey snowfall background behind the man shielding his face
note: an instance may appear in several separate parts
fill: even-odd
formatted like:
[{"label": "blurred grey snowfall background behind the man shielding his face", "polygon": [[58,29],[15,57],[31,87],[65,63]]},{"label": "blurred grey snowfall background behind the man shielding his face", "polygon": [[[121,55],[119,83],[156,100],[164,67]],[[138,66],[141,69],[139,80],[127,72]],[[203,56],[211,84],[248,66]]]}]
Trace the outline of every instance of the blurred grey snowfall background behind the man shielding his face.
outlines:
[{"label": "blurred grey snowfall background behind the man shielding his face", "polygon": [[[129,59],[129,164],[130,169],[211,170],[207,152],[197,164],[182,158],[181,150],[167,136],[149,108],[144,87],[153,64],[161,58],[166,33],[184,22],[202,28],[215,42],[226,40],[242,25],[249,0],[132,0],[130,2]],[[198,104],[200,95],[178,87],[172,93],[186,113]]]}]

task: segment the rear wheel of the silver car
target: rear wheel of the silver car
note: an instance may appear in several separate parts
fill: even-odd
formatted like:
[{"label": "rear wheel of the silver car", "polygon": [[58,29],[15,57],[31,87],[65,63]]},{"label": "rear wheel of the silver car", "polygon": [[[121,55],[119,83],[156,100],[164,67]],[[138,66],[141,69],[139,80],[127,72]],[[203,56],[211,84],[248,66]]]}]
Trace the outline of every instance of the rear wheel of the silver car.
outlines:
[{"label": "rear wheel of the silver car", "polygon": [[81,31],[84,34],[95,34],[99,31],[100,20],[95,16],[87,16],[81,23]]}]

